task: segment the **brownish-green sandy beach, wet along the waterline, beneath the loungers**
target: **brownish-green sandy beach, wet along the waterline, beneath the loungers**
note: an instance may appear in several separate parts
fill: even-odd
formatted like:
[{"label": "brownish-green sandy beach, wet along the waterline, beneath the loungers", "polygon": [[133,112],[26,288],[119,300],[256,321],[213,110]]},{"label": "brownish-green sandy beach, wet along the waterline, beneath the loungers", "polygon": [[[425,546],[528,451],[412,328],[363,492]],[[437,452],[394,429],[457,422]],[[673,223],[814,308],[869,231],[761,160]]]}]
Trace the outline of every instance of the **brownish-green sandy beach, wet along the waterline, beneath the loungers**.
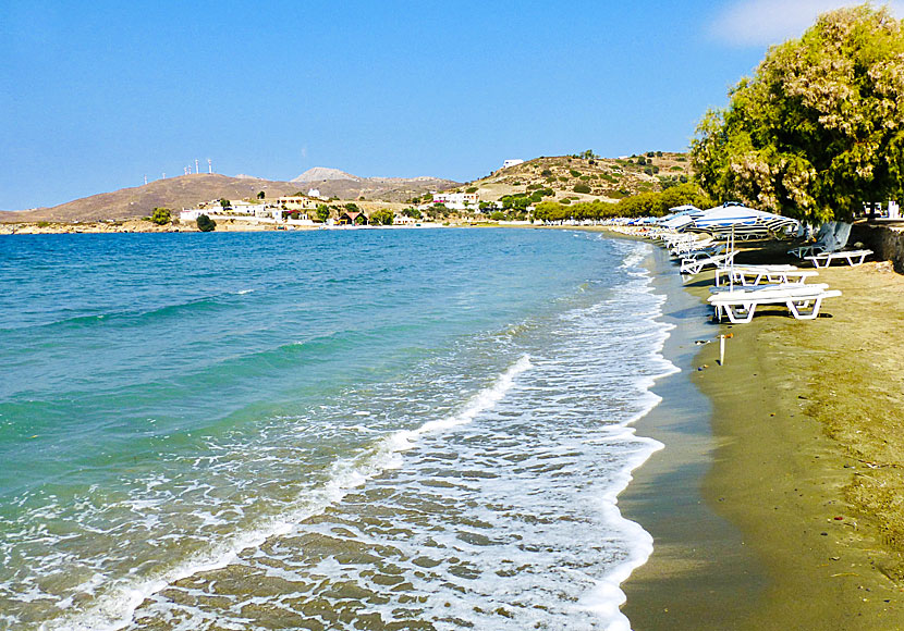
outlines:
[{"label": "brownish-green sandy beach, wet along the waterline, beneath the loungers", "polygon": [[844,294],[823,317],[730,325],[708,322],[711,274],[652,267],[682,372],[637,423],[665,449],[619,499],[655,540],[623,585],[632,628],[904,629],[904,277],[820,270]]}]

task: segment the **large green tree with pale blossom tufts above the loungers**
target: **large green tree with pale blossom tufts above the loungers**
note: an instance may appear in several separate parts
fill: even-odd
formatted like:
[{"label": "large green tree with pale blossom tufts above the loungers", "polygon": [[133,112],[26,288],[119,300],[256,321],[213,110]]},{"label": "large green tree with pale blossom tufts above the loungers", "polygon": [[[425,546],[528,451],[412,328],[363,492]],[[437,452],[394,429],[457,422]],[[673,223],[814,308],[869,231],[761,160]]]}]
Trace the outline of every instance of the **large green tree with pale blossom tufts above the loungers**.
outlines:
[{"label": "large green tree with pale blossom tufts above the loungers", "polygon": [[869,4],[769,49],[692,143],[704,190],[817,223],[904,186],[904,32]]}]

